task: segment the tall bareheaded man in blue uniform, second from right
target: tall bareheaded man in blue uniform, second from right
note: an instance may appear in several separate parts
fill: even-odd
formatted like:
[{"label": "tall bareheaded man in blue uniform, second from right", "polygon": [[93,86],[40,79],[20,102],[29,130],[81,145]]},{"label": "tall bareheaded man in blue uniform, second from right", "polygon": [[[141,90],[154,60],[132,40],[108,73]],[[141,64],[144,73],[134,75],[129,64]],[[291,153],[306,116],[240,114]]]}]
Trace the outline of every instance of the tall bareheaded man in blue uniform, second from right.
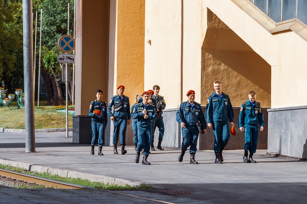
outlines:
[{"label": "tall bareheaded man in blue uniform, second from right", "polygon": [[234,114],[229,96],[222,92],[222,83],[215,81],[213,87],[215,92],[208,97],[206,120],[214,133],[215,163],[222,164],[222,151],[230,138],[228,120],[234,126]]}]

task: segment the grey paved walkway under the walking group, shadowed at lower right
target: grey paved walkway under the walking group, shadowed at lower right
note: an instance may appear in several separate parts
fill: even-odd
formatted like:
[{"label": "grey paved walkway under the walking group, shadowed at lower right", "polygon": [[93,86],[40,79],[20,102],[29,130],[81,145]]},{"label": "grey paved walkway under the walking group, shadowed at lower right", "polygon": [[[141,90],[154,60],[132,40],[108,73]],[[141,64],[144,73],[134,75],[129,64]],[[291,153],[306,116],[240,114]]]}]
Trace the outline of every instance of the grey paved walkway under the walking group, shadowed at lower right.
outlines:
[{"label": "grey paved walkway under the walking group, shadowed at lower right", "polygon": [[134,163],[132,146],[126,146],[126,155],[114,155],[113,147],[103,147],[104,156],[98,156],[98,147],[91,155],[90,145],[72,143],[65,132],[35,135],[36,152],[26,153],[25,133],[0,133],[0,163],[105,183],[146,183],[156,188],[144,194],[165,196],[173,203],[307,202],[307,163],[263,156],[266,150],[257,150],[256,164],[243,163],[243,150],[224,151],[224,164],[214,164],[213,151],[198,151],[199,164],[192,165],[188,154],[180,163],[181,150],[165,147],[150,154],[151,165],[142,165]]}]

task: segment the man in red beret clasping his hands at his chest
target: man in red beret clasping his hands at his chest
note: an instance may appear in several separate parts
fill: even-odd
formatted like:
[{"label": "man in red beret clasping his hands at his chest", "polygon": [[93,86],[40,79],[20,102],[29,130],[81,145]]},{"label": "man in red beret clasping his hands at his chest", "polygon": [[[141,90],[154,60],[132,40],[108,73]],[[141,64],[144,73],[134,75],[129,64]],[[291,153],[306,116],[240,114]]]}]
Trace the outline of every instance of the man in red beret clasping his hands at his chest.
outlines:
[{"label": "man in red beret clasping his hands at his chest", "polygon": [[150,95],[148,91],[144,91],[142,93],[143,101],[134,105],[134,109],[132,110],[132,118],[137,119],[138,125],[138,146],[134,161],[135,163],[139,162],[140,153],[144,148],[142,164],[145,165],[150,165],[147,161],[147,157],[150,150],[151,125],[152,121],[157,119],[155,106],[148,103],[149,98]]}]

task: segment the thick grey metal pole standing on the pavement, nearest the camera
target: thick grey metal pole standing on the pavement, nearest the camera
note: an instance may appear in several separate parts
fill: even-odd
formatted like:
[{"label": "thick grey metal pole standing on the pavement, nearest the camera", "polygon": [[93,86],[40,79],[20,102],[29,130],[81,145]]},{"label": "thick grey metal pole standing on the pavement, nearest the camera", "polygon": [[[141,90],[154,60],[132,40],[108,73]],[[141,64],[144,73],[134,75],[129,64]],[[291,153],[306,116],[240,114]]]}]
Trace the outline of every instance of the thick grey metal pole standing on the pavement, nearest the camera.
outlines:
[{"label": "thick grey metal pole standing on the pavement, nearest the camera", "polygon": [[25,80],[25,152],[35,152],[32,0],[22,0],[23,67]]}]

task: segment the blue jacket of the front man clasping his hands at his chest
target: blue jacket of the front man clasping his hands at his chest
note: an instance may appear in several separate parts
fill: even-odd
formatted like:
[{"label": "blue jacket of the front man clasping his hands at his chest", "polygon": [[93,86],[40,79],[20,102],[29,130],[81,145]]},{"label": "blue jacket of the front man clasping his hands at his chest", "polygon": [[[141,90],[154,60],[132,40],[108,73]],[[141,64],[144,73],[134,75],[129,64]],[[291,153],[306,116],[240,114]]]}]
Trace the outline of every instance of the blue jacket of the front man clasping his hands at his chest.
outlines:
[{"label": "blue jacket of the front man clasping his hands at his chest", "polygon": [[148,104],[146,106],[148,118],[144,118],[143,110],[145,109],[145,106],[142,103],[138,103],[134,105],[134,109],[132,110],[132,119],[137,119],[137,125],[138,127],[142,128],[149,128],[151,129],[152,120],[157,120],[157,112],[155,110],[155,107],[153,104]]}]

